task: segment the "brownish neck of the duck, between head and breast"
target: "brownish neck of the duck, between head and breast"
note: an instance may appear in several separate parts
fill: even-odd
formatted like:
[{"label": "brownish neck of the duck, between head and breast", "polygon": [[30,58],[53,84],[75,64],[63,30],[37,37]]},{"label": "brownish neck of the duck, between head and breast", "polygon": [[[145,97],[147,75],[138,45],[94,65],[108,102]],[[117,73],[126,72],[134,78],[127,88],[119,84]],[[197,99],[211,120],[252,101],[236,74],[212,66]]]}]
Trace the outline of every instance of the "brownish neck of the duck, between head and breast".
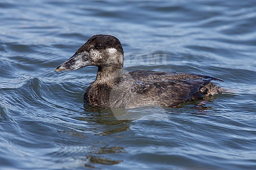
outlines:
[{"label": "brownish neck of the duck, between head and breast", "polygon": [[108,66],[98,67],[96,82],[114,86],[122,76],[122,67]]}]

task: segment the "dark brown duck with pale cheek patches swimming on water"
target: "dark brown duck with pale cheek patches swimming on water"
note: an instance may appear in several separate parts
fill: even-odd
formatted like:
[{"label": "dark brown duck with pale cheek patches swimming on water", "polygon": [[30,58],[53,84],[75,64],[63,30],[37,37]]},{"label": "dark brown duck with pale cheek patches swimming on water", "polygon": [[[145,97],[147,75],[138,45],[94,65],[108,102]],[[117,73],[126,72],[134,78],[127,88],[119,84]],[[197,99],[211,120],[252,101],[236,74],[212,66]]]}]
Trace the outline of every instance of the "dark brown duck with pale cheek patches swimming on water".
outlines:
[{"label": "dark brown duck with pale cheek patches swimming on water", "polygon": [[146,70],[122,73],[123,64],[124,50],[119,39],[96,34],[55,71],[98,67],[96,79],[86,89],[83,100],[89,106],[100,108],[177,107],[225,91],[211,82],[223,81],[215,77]]}]

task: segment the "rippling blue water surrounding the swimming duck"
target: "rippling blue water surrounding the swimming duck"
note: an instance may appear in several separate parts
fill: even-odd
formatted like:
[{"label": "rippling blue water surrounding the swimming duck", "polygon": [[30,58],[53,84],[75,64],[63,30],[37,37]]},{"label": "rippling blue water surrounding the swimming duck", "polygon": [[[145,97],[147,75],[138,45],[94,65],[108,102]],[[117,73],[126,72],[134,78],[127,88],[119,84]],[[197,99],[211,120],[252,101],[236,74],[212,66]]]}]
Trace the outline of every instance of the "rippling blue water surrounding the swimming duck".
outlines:
[{"label": "rippling blue water surrounding the swimming duck", "polygon": [[[0,169],[255,169],[255,30],[253,0],[1,0]],[[206,74],[236,94],[88,107],[97,69],[54,69],[99,33],[122,42],[125,71]]]}]

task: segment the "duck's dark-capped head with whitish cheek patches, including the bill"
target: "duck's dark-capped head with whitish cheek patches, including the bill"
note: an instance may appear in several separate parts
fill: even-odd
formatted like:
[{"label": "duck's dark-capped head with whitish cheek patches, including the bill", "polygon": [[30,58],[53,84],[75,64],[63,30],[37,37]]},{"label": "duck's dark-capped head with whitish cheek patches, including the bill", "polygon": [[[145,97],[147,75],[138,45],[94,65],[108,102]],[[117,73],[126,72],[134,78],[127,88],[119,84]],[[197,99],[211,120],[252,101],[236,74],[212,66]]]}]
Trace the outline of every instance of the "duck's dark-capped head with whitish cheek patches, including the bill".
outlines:
[{"label": "duck's dark-capped head with whitish cheek patches, including the bill", "polygon": [[55,71],[73,71],[89,65],[102,69],[122,69],[124,51],[121,42],[111,35],[97,34],[92,36],[67,61]]}]

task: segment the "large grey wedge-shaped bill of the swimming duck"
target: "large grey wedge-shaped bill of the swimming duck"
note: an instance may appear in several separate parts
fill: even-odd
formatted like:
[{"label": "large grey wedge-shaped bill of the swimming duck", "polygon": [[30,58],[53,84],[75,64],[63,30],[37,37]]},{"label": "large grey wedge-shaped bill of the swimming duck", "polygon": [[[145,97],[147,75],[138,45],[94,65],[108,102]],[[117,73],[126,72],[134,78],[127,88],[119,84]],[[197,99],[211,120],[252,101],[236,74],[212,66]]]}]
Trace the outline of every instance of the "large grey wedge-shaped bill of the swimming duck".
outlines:
[{"label": "large grey wedge-shaped bill of the swimming duck", "polygon": [[55,71],[73,71],[90,65],[91,60],[88,52],[75,53],[67,61],[59,65]]}]

